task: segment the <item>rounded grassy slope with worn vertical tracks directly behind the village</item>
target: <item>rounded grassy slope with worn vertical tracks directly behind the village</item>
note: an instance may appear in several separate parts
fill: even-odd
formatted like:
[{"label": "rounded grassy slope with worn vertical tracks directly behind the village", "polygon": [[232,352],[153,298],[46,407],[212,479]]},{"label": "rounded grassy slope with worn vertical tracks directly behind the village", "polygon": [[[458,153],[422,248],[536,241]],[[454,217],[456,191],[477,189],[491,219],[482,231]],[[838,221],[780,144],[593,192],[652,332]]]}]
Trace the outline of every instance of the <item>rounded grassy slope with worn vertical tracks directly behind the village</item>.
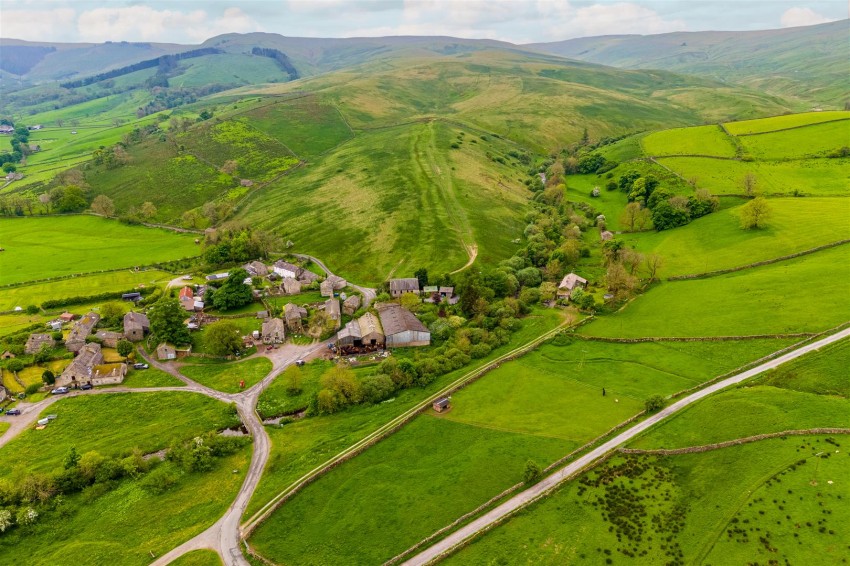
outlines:
[{"label": "rounded grassy slope with worn vertical tracks directly behind the village", "polygon": [[[439,122],[363,134],[249,201],[242,217],[278,230],[359,283],[421,266],[444,273],[510,256],[526,190],[515,170],[487,160],[501,143],[464,143]],[[469,138],[470,136],[466,136]]]}]

